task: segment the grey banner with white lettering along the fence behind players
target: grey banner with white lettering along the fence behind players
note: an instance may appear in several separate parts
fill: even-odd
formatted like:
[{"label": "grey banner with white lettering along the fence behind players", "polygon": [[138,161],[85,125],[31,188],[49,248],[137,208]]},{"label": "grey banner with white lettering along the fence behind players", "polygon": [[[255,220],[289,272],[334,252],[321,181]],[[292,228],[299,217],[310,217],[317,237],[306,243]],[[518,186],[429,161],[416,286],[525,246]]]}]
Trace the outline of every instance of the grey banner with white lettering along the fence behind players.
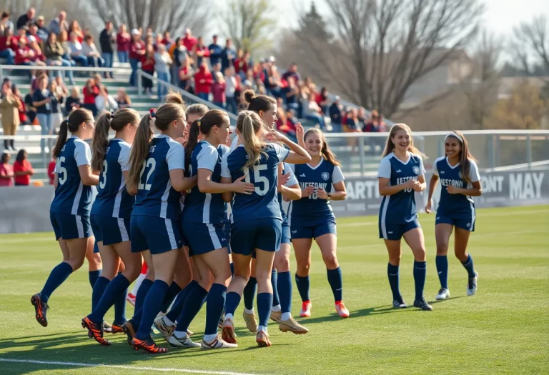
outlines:
[{"label": "grey banner with white lettering along the fence behind players", "polygon": [[[549,171],[490,172],[480,177],[483,195],[475,197],[477,208],[549,204]],[[430,174],[426,179],[428,184]],[[378,214],[381,197],[377,178],[352,177],[345,185],[347,199],[332,201],[336,217]],[[433,208],[437,207],[438,193]],[[52,186],[0,188],[0,233],[51,231],[49,204],[53,196]],[[417,209],[423,211],[427,191],[417,194],[416,202]]]}]

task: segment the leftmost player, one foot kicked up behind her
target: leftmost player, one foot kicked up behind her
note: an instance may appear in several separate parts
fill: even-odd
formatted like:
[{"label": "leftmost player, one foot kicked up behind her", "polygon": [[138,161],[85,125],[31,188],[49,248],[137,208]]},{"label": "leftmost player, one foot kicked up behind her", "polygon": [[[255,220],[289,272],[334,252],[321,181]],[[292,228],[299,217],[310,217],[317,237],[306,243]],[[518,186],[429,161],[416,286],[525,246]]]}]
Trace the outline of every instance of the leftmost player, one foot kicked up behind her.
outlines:
[{"label": "leftmost player, one foot kicked up behind her", "polygon": [[[89,210],[91,186],[99,183],[99,176],[91,173],[91,150],[84,139],[94,134],[94,118],[85,109],[75,109],[61,123],[53,156],[56,159],[54,176],[55,196],[49,209],[55,238],[59,241],[63,261],[51,270],[40,293],[31,297],[36,321],[48,325],[47,311],[51,294],[84,263],[86,251],[93,249]],[[68,132],[71,136],[67,139]],[[91,245],[91,246],[89,246]]]}]

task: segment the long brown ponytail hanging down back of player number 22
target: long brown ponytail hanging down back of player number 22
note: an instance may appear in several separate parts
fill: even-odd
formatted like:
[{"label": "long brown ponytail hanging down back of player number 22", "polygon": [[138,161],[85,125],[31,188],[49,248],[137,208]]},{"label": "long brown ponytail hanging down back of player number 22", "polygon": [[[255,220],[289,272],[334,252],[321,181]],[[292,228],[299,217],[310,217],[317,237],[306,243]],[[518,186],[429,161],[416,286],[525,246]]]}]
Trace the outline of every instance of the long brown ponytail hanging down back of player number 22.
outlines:
[{"label": "long brown ponytail hanging down back of player number 22", "polygon": [[152,116],[150,114],[143,116],[135,134],[132,151],[129,154],[129,176],[126,181],[128,191],[137,191],[141,169],[149,155],[149,143],[153,135],[151,121]]}]

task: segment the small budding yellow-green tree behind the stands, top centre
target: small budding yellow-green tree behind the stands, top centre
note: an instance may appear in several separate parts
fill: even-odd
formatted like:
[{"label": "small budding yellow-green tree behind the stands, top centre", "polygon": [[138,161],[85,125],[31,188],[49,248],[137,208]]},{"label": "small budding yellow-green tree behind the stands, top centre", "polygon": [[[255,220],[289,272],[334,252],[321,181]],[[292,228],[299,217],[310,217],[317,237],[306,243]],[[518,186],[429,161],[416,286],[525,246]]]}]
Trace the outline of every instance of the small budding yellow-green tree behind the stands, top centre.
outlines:
[{"label": "small budding yellow-green tree behind the stands, top centre", "polygon": [[219,14],[224,31],[238,49],[257,54],[272,45],[272,31],[276,21],[270,0],[231,0],[227,10]]}]

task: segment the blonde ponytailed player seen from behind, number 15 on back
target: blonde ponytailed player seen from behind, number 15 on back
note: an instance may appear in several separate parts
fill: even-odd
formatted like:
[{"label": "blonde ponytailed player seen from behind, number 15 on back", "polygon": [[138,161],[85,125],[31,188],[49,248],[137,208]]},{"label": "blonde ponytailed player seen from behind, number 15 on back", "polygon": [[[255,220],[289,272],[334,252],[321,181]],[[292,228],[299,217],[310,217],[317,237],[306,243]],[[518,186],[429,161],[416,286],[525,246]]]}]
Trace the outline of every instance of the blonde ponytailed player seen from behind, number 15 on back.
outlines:
[{"label": "blonde ponytailed player seen from behind, number 15 on back", "polygon": [[[222,183],[232,184],[244,176],[244,181],[254,184],[254,192],[235,194],[232,204],[231,249],[234,277],[227,289],[225,320],[222,338],[236,344],[234,335],[234,311],[240,302],[242,291],[250,274],[252,253],[256,254],[255,274],[259,294],[257,307],[259,326],[256,342],[270,346],[267,321],[272,308],[271,272],[274,251],[280,246],[282,214],[277,201],[278,164],[287,161],[302,164],[310,161],[307,151],[286,136],[271,131],[269,138],[288,146],[267,144],[263,121],[254,111],[242,111],[237,119],[239,146],[223,156]],[[233,199],[232,193],[223,193],[225,201]]]}]

